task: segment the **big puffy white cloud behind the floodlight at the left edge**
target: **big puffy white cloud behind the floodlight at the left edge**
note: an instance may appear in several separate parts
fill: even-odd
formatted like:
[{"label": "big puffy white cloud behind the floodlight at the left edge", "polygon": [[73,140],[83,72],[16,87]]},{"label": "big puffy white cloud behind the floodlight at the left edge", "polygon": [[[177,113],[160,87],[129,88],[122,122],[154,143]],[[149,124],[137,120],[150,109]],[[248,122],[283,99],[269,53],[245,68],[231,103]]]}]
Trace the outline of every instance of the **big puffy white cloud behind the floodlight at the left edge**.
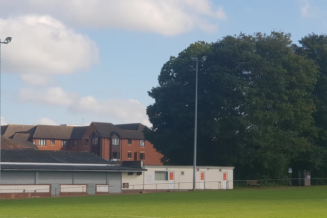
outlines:
[{"label": "big puffy white cloud behind the floodlight at the left edge", "polygon": [[6,63],[2,70],[25,74],[24,81],[30,81],[28,76],[35,74],[74,73],[99,61],[94,42],[50,16],[0,19],[0,32],[12,37],[6,46],[10,49],[1,57]]}]

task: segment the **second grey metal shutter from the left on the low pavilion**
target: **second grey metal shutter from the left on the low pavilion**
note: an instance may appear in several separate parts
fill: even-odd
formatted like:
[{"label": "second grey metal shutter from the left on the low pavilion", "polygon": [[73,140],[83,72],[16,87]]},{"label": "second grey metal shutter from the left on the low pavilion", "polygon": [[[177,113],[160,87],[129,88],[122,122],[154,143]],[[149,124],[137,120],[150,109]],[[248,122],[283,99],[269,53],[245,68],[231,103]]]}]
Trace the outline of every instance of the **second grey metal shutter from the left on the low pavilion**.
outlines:
[{"label": "second grey metal shutter from the left on the low pavilion", "polygon": [[39,171],[38,184],[73,184],[73,172]]}]

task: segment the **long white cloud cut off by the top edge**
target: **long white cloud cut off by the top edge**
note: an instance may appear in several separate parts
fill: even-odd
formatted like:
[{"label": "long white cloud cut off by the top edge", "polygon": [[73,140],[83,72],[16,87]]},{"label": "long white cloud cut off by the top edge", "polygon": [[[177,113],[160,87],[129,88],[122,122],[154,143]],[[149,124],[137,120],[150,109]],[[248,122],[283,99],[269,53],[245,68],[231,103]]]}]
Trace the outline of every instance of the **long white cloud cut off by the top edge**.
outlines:
[{"label": "long white cloud cut off by the top edge", "polygon": [[[10,9],[10,10],[9,10]],[[20,0],[1,5],[2,16],[49,14],[71,25],[120,28],[176,35],[193,28],[217,29],[225,19],[210,0]],[[200,16],[205,16],[199,24]],[[214,20],[214,21],[212,21]]]}]

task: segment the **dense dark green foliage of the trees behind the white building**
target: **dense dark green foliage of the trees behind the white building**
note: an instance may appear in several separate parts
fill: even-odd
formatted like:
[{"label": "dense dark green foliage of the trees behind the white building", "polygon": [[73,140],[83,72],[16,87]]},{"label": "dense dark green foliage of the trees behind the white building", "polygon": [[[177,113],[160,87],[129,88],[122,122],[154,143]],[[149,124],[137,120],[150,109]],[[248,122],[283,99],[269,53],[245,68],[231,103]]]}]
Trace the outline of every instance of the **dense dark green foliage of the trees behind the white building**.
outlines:
[{"label": "dense dark green foliage of the trees behind the white building", "polygon": [[165,164],[192,165],[198,62],[197,165],[235,166],[235,178],[281,178],[291,166],[326,175],[327,37],[290,34],[197,42],[171,57],[149,91],[146,138]]}]

